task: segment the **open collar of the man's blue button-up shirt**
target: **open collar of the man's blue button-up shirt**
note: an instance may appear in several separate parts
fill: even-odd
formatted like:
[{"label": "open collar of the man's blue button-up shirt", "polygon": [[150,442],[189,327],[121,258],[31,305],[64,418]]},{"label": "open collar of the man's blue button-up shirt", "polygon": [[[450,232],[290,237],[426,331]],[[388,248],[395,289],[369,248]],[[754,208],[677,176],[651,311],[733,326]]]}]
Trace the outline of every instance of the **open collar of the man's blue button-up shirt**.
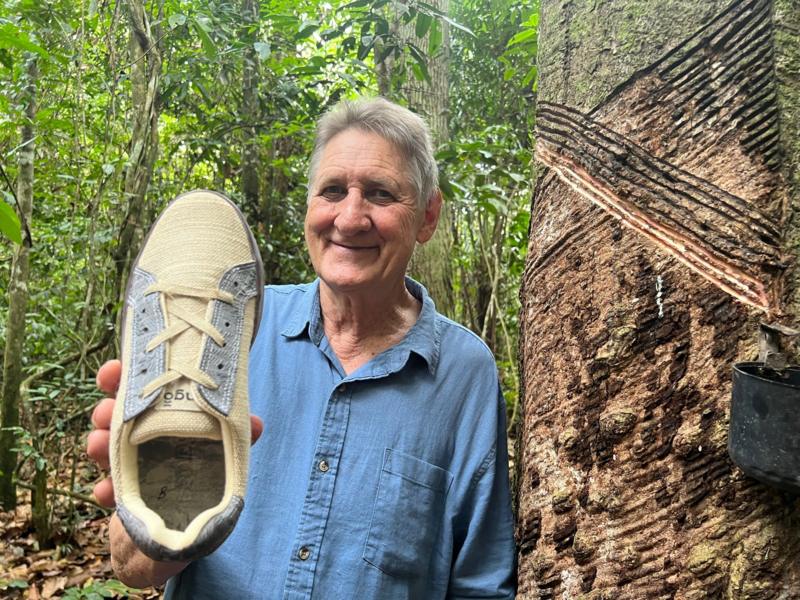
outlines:
[{"label": "open collar of the man's blue button-up shirt", "polygon": [[[386,366],[390,367],[391,371],[399,370],[408,361],[408,355],[413,352],[425,361],[430,373],[434,374],[436,366],[439,364],[441,341],[436,306],[428,295],[428,290],[410,277],[406,277],[406,289],[422,302],[422,310],[417,322],[414,323],[405,338],[387,351]],[[309,285],[308,291],[298,302],[294,315],[294,319],[286,325],[281,333],[290,338],[306,334],[314,344],[319,345],[325,335],[319,306],[319,279]]]}]

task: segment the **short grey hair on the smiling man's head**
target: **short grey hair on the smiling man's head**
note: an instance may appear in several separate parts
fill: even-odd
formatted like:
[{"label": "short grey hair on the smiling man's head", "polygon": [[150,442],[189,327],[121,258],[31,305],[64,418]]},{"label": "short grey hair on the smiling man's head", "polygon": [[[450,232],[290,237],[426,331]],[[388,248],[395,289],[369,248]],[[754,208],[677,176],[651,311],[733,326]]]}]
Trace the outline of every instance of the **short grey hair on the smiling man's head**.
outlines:
[{"label": "short grey hair on the smiling man's head", "polygon": [[380,97],[343,100],[319,120],[308,169],[309,199],[325,146],[347,129],[375,133],[397,148],[405,161],[418,207],[427,206],[439,183],[430,130],[419,115]]}]

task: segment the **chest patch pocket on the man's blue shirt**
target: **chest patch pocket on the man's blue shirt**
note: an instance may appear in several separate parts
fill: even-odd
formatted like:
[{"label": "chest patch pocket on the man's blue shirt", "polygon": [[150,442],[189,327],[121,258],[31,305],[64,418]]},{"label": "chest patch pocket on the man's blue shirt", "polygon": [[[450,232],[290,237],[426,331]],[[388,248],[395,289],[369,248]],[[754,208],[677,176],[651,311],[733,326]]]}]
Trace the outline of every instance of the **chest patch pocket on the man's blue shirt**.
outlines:
[{"label": "chest patch pocket on the man's blue shirt", "polygon": [[396,577],[424,575],[452,481],[449,471],[386,448],[364,560]]}]

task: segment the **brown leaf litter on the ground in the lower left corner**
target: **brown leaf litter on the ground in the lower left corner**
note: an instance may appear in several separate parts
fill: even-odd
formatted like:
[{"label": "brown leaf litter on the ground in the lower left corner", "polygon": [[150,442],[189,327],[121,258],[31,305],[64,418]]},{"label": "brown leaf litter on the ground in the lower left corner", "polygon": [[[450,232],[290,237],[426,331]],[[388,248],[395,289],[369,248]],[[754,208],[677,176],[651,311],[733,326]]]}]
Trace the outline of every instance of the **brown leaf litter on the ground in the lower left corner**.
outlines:
[{"label": "brown leaf litter on the ground in the lower left corner", "polygon": [[71,519],[56,526],[54,547],[44,549],[31,525],[30,493],[20,496],[15,511],[0,512],[0,598],[159,597],[156,589],[134,590],[114,579],[108,553],[108,517],[103,511],[73,506]]}]

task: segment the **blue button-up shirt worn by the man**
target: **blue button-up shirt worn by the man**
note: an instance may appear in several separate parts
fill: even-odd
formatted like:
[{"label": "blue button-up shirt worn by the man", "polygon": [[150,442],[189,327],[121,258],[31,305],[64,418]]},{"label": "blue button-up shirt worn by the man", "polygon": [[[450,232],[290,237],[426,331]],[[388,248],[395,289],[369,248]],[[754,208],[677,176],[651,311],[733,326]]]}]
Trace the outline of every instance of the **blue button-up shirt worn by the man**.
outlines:
[{"label": "blue button-up shirt worn by the man", "polygon": [[231,536],[168,599],[513,598],[505,404],[483,342],[425,289],[396,346],[346,375],[319,282],[269,286],[250,355],[253,446]]}]

